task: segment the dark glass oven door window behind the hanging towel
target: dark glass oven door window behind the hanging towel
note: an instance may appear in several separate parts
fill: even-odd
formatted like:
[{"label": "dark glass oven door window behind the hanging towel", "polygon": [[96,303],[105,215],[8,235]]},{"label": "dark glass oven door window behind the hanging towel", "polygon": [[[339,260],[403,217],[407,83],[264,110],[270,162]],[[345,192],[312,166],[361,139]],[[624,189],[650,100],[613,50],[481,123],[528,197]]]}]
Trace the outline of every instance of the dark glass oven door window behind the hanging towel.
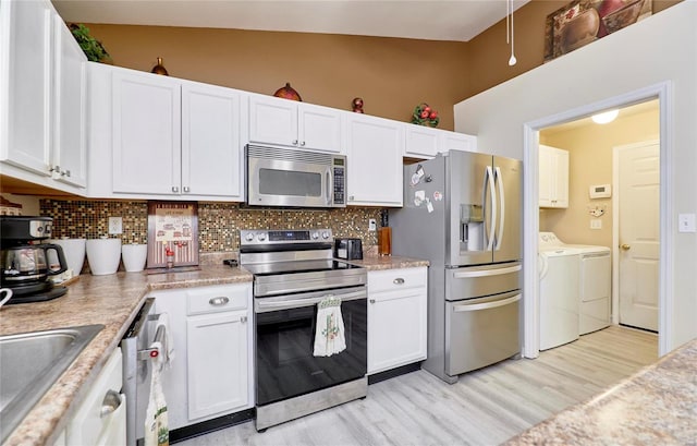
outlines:
[{"label": "dark glass oven door window behind the hanging towel", "polygon": [[256,314],[257,405],[362,377],[367,372],[366,300],[341,304],[346,349],[315,357],[317,308]]}]

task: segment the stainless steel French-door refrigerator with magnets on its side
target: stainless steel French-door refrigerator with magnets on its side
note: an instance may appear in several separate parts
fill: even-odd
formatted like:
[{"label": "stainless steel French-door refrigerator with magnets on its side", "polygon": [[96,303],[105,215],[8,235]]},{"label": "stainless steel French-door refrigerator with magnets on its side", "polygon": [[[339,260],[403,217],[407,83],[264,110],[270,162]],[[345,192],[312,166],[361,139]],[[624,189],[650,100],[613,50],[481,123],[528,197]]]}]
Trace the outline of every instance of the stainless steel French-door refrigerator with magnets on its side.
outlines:
[{"label": "stainless steel French-door refrigerator with magnets on its side", "polygon": [[392,254],[430,262],[428,358],[448,383],[521,352],[522,164],[451,150],[404,167]]}]

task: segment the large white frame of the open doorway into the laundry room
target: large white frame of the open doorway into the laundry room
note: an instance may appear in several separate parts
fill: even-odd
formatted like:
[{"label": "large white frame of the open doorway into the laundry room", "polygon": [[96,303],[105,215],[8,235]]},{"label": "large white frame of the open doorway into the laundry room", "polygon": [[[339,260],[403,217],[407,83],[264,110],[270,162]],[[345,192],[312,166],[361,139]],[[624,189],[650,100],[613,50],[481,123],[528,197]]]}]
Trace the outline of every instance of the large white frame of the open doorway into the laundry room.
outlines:
[{"label": "large white frame of the open doorway into the laundry room", "polygon": [[[659,260],[659,357],[669,352],[669,339],[672,339],[673,284],[669,278],[672,270],[674,241],[670,237],[673,227],[673,204],[669,192],[673,190],[673,180],[669,174],[672,165],[673,136],[669,131],[673,124],[673,88],[670,81],[649,85],[644,88],[613,96],[597,103],[586,104],[570,110],[528,121],[523,124],[523,162],[526,174],[523,179],[525,200],[523,213],[523,265],[524,265],[524,310],[523,310],[523,351],[525,358],[539,355],[539,280],[537,270],[537,244],[539,233],[538,207],[538,152],[539,131],[541,129],[575,121],[611,108],[622,108],[650,99],[659,99],[660,110],[660,260]],[[614,311],[614,310],[613,310]]]}]

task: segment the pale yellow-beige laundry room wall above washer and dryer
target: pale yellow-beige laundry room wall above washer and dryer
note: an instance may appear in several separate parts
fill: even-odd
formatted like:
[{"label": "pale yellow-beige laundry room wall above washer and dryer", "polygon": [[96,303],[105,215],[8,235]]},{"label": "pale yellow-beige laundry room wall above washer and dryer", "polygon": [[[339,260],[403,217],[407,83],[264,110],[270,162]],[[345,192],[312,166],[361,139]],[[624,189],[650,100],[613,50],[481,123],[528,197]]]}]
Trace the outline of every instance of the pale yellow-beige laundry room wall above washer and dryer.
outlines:
[{"label": "pale yellow-beige laundry room wall above washer and dryer", "polygon": [[[568,150],[568,208],[540,209],[540,231],[553,231],[566,243],[612,245],[612,198],[590,200],[588,186],[612,184],[612,149],[615,146],[657,140],[658,104],[652,110],[622,117],[604,125],[540,132],[540,143]],[[602,229],[590,229],[589,207],[606,206],[599,217]]]}]

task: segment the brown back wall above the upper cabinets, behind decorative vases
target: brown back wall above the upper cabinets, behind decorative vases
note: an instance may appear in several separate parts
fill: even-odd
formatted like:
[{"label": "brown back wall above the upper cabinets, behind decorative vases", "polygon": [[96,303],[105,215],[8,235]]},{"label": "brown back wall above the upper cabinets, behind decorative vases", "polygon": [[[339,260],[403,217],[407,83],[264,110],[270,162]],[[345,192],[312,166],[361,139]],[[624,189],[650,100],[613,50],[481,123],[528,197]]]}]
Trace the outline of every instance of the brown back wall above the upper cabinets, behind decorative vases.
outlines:
[{"label": "brown back wall above the upper cabinets, behind decorative vases", "polygon": [[304,33],[87,24],[119,67],[150,71],[162,57],[175,77],[273,94],[286,82],[303,100],[409,121],[414,107],[439,111],[467,95],[464,43]]}]

